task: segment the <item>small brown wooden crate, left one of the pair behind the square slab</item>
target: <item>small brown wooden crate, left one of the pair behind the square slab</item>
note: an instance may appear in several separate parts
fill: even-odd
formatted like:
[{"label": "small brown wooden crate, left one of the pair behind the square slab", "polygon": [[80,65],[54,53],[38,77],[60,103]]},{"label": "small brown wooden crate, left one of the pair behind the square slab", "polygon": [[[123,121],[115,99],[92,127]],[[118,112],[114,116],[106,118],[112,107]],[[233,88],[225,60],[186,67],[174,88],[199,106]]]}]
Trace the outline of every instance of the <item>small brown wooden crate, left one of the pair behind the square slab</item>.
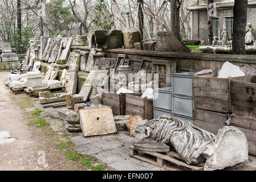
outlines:
[{"label": "small brown wooden crate, left one of the pair behind the square slab", "polygon": [[112,107],[113,115],[125,115],[126,94],[104,91],[102,96],[103,104]]}]

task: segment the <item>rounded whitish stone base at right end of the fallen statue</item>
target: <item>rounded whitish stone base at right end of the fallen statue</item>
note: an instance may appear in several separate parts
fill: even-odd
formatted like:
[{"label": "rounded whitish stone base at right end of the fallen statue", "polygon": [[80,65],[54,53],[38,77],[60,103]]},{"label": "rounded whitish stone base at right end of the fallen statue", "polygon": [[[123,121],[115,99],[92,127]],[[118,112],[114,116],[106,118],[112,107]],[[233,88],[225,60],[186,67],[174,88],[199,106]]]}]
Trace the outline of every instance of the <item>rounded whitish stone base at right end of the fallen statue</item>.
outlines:
[{"label": "rounded whitish stone base at right end of the fallen statue", "polygon": [[214,171],[245,162],[248,157],[248,142],[237,127],[225,126],[218,131],[216,142],[204,152],[208,156],[205,171]]}]

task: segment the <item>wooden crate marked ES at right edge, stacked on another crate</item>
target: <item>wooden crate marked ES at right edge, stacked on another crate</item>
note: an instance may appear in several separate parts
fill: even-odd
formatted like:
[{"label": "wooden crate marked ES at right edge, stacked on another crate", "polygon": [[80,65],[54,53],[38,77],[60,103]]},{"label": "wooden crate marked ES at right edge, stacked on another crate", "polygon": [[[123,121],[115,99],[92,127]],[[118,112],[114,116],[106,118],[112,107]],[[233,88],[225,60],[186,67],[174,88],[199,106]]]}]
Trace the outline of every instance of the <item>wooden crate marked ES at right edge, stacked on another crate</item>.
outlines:
[{"label": "wooden crate marked ES at right edge, stacked on another crate", "polygon": [[230,90],[232,113],[256,117],[256,76],[233,78]]}]

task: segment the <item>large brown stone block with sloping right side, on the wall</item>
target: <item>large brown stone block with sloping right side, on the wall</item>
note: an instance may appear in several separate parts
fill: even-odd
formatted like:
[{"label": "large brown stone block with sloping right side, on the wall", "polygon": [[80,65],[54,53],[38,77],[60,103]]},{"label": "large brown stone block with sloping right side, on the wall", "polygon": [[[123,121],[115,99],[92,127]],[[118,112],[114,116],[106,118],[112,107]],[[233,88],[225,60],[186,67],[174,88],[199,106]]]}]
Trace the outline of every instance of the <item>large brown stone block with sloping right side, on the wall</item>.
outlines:
[{"label": "large brown stone block with sloping right side, on the wall", "polygon": [[178,36],[173,32],[157,32],[157,49],[156,51],[165,52],[191,52]]}]

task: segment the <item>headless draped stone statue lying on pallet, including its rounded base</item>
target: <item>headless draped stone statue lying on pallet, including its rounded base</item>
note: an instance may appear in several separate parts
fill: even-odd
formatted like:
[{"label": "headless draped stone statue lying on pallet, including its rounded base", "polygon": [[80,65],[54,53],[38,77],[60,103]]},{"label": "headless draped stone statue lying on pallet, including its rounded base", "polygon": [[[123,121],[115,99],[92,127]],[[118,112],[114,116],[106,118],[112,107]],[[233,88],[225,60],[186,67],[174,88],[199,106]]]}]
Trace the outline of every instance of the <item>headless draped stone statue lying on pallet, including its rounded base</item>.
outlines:
[{"label": "headless draped stone statue lying on pallet, including its rounded base", "polygon": [[137,127],[136,144],[147,142],[149,137],[173,147],[188,164],[206,161],[205,170],[223,169],[248,159],[245,134],[233,126],[225,126],[216,137],[191,123],[162,115]]}]

